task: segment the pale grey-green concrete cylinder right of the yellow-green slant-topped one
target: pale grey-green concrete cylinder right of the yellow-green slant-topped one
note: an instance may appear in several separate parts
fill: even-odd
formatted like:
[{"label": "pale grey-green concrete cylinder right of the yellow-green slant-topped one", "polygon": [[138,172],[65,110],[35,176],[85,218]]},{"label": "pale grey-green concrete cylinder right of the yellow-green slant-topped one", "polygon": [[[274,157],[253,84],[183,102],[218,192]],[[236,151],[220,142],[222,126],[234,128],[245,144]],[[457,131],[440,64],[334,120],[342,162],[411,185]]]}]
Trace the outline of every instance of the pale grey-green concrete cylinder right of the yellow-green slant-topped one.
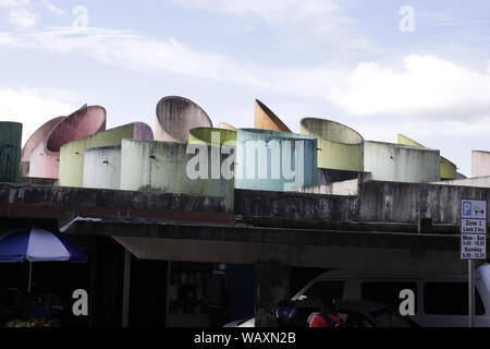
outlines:
[{"label": "pale grey-green concrete cylinder right of the yellow-green slant-topped one", "polygon": [[365,142],[365,169],[378,181],[434,182],[440,179],[440,153],[383,142]]}]

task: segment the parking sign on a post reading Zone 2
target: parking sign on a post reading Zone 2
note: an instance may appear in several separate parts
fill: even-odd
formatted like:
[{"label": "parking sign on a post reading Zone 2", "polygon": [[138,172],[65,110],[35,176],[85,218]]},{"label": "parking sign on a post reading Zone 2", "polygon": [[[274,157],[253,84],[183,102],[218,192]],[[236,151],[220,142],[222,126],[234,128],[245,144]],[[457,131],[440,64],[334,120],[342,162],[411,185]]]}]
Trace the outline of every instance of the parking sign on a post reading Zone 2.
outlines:
[{"label": "parking sign on a post reading Zone 2", "polygon": [[461,202],[461,258],[468,261],[469,327],[475,326],[475,260],[487,258],[487,202]]}]

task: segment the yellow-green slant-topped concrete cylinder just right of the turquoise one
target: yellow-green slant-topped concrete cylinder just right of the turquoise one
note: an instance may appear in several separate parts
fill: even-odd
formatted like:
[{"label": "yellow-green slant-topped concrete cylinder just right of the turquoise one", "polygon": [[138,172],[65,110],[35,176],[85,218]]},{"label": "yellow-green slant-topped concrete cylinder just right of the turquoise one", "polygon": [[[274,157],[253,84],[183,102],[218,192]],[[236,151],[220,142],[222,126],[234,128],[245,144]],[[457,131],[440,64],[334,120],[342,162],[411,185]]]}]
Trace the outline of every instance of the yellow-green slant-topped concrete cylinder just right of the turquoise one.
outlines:
[{"label": "yellow-green slant-topped concrete cylinder just right of the turquoise one", "polygon": [[318,167],[364,171],[364,139],[355,130],[331,120],[305,118],[301,132],[318,139]]}]

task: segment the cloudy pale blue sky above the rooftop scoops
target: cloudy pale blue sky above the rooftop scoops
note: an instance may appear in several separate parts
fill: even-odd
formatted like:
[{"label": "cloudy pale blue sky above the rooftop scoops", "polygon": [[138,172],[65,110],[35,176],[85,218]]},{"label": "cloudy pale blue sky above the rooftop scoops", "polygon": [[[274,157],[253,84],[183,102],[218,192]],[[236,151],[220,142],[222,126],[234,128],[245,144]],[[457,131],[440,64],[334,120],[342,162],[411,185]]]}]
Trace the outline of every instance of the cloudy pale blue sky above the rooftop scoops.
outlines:
[{"label": "cloudy pale blue sky above the rooftop scoops", "polygon": [[470,176],[490,151],[490,1],[0,0],[0,120],[24,141],[85,104],[154,127],[175,95],[215,125],[253,127],[258,98],[295,132],[403,133]]}]

